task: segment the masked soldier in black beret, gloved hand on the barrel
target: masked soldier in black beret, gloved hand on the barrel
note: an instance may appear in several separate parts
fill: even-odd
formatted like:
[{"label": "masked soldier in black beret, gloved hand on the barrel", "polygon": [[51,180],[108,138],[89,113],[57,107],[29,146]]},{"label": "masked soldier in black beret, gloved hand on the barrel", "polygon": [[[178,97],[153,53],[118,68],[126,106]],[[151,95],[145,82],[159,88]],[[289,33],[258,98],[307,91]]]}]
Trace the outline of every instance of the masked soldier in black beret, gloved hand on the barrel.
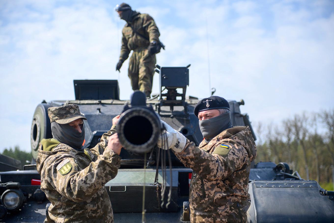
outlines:
[{"label": "masked soldier in black beret, gloved hand on the barrel", "polygon": [[246,223],[251,204],[249,170],[256,157],[251,131],[248,126],[232,127],[229,104],[221,97],[204,98],[194,113],[204,136],[198,147],[165,123],[168,144],[158,142],[164,149],[168,145],[193,170],[190,220],[192,223]]}]

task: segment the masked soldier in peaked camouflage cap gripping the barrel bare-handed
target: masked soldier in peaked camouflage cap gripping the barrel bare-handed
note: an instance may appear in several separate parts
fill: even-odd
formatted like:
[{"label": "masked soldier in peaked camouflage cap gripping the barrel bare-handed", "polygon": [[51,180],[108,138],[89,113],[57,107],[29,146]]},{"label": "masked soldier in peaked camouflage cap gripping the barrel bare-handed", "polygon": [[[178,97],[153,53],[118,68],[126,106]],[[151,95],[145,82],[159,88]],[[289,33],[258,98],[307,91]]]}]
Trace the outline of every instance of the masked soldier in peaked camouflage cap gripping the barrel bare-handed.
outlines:
[{"label": "masked soldier in peaked camouflage cap gripping the barrel bare-handed", "polygon": [[120,167],[120,144],[113,119],[111,130],[92,149],[83,149],[85,128],[79,107],[48,108],[52,139],[42,139],[36,159],[41,190],[51,202],[44,222],[114,222],[105,184]]}]

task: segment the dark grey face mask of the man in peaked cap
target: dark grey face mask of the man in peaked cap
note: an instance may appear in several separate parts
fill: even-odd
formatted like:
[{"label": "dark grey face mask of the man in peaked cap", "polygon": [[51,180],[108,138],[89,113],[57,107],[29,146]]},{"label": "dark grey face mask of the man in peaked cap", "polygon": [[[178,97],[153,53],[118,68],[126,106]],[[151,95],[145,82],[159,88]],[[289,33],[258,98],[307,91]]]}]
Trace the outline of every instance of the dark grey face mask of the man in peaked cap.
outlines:
[{"label": "dark grey face mask of the man in peaked cap", "polygon": [[52,137],[59,142],[66,144],[73,149],[82,150],[83,140],[85,140],[85,128],[82,126],[82,132],[79,133],[68,124],[58,124],[51,122]]}]

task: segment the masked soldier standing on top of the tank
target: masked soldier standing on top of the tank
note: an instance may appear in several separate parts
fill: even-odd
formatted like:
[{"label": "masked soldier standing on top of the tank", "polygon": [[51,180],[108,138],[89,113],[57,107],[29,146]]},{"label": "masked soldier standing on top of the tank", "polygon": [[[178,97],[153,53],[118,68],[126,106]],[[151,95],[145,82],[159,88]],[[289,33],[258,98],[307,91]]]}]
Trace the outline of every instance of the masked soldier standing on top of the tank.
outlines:
[{"label": "masked soldier standing on top of the tank", "polygon": [[149,14],[133,11],[126,3],[117,5],[115,10],[121,19],[127,22],[122,30],[121,56],[116,71],[120,71],[133,50],[128,70],[132,89],[141,90],[146,97],[150,97],[156,64],[155,54],[158,53],[159,29]]}]

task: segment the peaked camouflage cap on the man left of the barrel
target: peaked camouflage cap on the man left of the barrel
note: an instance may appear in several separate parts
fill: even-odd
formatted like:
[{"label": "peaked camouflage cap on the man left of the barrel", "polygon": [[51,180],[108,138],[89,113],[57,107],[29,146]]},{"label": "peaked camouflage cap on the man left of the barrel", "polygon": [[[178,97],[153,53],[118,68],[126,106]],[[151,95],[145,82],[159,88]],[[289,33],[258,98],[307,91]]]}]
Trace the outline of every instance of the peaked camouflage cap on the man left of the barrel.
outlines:
[{"label": "peaked camouflage cap on the man left of the barrel", "polygon": [[47,109],[50,122],[56,122],[59,124],[67,124],[77,119],[87,120],[81,116],[79,106],[76,104],[67,104],[60,107],[49,107]]}]

